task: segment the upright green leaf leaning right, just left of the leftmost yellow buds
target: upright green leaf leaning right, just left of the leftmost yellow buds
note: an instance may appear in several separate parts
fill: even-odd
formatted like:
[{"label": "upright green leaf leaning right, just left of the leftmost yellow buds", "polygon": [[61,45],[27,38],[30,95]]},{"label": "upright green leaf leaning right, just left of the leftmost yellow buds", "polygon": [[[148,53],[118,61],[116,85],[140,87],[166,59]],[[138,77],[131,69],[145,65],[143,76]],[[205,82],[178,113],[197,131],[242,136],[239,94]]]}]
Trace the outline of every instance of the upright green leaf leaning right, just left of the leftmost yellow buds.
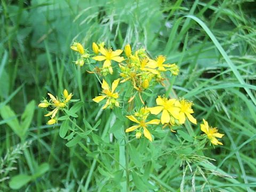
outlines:
[{"label": "upright green leaf leaning right, just left of the leftmost yellow buds", "polygon": [[28,105],[25,108],[25,111],[23,112],[21,116],[21,130],[22,130],[22,135],[25,135],[31,121],[34,117],[34,111],[35,111],[36,103],[34,100],[30,101]]}]

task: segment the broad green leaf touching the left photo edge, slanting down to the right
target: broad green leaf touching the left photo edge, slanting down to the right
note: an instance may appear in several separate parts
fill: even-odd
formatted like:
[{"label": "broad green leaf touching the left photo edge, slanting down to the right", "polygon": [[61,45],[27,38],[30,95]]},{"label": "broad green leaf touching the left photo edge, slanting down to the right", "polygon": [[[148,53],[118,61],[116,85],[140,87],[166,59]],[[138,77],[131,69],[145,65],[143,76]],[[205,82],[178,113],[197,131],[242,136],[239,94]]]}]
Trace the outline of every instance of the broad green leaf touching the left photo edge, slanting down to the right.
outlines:
[{"label": "broad green leaf touching the left photo edge, slanting down to the right", "polygon": [[9,106],[3,106],[0,109],[0,114],[4,120],[6,120],[7,125],[11,127],[11,129],[22,138],[20,123],[18,121],[17,115]]}]

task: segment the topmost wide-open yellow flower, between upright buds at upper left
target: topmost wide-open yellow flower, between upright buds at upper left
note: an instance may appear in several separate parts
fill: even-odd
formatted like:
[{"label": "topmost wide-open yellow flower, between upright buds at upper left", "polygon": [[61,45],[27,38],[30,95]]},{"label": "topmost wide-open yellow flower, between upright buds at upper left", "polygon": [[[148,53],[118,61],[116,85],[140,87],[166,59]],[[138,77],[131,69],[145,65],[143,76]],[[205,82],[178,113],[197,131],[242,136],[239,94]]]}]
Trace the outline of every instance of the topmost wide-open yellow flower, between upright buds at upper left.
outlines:
[{"label": "topmost wide-open yellow flower, between upright buds at upper left", "polygon": [[116,61],[116,62],[122,62],[124,60],[123,57],[119,57],[119,55],[123,52],[123,50],[116,50],[113,51],[111,49],[106,50],[104,47],[100,47],[99,52],[102,55],[98,55],[96,57],[93,57],[92,59],[96,61],[104,61],[103,63],[103,68],[109,69],[109,73],[113,74],[113,69],[111,67],[111,60]]}]

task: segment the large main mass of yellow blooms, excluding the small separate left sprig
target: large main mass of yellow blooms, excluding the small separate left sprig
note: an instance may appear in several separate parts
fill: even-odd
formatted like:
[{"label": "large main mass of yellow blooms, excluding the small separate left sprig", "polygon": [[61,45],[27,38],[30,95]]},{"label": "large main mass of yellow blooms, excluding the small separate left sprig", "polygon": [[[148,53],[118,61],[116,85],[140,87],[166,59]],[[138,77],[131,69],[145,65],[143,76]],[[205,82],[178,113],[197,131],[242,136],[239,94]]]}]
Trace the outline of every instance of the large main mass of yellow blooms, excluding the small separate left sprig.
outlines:
[{"label": "large main mass of yellow blooms, excluding the small separate left sprig", "polygon": [[[192,115],[194,114],[193,102],[186,99],[159,95],[156,98],[155,106],[147,107],[145,105],[147,94],[152,93],[151,87],[156,84],[165,86],[164,81],[168,76],[179,74],[179,67],[175,63],[167,63],[165,56],[158,55],[152,59],[145,49],[132,51],[130,44],[127,44],[123,51],[106,47],[105,43],[93,43],[91,54],[89,51],[84,51],[80,43],[74,43],[71,49],[79,53],[77,65],[83,66],[86,58],[88,65],[93,63],[90,69],[92,67],[94,69],[89,73],[95,73],[102,77],[102,93],[93,101],[101,103],[105,100],[102,109],[123,108],[124,113],[129,114],[126,117],[135,123],[125,132],[135,131],[137,139],[141,138],[143,133],[148,140],[152,141],[153,135],[150,133],[150,125],[162,126],[162,128],[169,126],[171,131],[175,132],[172,127],[185,124],[186,119],[195,125],[197,124],[197,119]],[[116,76],[119,77],[116,78]],[[113,79],[115,80],[113,81]],[[110,82],[113,82],[111,87],[109,86]],[[123,92],[126,93],[123,94]],[[141,101],[142,106],[137,106],[139,110],[130,115],[136,97],[137,100]],[[122,106],[120,102],[123,103]],[[204,124],[201,124],[201,130],[205,133],[203,137],[207,138],[213,145],[222,145],[217,138],[221,138],[223,134],[218,133],[216,128],[209,127],[204,119],[203,122]]]}]

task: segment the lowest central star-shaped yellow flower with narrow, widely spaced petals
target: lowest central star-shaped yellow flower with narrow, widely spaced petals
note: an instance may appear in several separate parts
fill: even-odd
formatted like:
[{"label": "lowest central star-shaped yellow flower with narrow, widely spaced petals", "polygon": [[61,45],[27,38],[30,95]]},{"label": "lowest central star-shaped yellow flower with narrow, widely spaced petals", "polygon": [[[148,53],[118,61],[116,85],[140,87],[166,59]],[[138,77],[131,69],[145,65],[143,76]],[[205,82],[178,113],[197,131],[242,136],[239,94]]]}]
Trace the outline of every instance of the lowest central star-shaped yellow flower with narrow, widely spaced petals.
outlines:
[{"label": "lowest central star-shaped yellow flower with narrow, widely spaced petals", "polygon": [[[133,126],[127,128],[127,129],[125,130],[126,133],[127,133],[127,132],[131,132],[131,131],[134,131],[134,130],[136,130],[136,129],[138,129],[138,128],[142,128],[142,129],[143,129],[143,134],[144,134],[144,136],[145,136],[149,141],[152,141],[152,136],[151,136],[150,132],[148,131],[147,126],[148,126],[148,125],[158,125],[158,124],[160,123],[160,120],[159,120],[159,119],[153,119],[153,120],[151,120],[151,121],[149,121],[149,122],[146,122],[146,120],[147,120],[146,118],[142,118],[142,119],[140,119],[140,121],[139,121],[139,120],[138,120],[137,118],[135,118],[133,115],[126,116],[126,117],[129,118],[131,121],[137,123],[137,125],[133,125]],[[140,132],[137,132],[137,133],[135,134],[135,136],[136,136],[137,139],[140,138],[140,136],[141,136]]]}]

